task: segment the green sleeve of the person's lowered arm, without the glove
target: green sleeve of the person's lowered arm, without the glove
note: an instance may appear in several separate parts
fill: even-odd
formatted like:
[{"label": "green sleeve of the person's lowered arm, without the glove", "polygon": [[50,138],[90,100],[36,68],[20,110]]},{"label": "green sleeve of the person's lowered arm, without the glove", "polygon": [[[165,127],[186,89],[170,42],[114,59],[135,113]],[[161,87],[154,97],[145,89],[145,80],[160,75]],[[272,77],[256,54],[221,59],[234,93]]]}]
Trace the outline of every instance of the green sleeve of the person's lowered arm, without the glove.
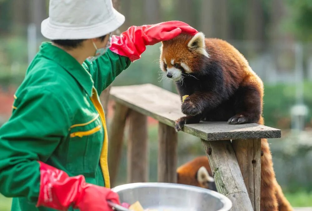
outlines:
[{"label": "green sleeve of the person's lowered arm, without the glove", "polygon": [[13,107],[11,118],[0,128],[0,192],[36,202],[40,185],[37,161],[50,157],[70,123],[64,105],[45,90],[22,91]]}]

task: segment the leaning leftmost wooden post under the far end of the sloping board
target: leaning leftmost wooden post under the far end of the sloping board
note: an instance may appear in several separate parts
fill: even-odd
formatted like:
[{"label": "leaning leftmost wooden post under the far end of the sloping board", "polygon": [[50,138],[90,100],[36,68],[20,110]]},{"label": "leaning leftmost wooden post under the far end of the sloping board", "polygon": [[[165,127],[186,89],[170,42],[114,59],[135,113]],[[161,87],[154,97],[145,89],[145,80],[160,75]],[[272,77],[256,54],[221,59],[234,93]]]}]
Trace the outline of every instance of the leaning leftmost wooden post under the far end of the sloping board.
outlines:
[{"label": "leaning leftmost wooden post under the far end of the sloping board", "polygon": [[129,109],[124,105],[116,103],[115,112],[110,124],[108,167],[110,171],[110,184],[114,187],[117,178],[119,162],[121,157],[122,143],[124,140],[124,126]]}]

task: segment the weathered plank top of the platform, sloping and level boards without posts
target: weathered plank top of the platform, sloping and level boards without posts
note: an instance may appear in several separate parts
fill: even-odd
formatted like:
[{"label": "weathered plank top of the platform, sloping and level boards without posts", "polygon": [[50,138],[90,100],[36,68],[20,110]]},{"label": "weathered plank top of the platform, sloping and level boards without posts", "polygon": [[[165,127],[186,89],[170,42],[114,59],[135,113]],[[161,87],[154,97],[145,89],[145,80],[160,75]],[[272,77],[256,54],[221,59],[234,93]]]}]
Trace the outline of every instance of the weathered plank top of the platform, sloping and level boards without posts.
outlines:
[{"label": "weathered plank top of the platform, sloping and level boards without posts", "polygon": [[[180,97],[152,84],[112,87],[110,94],[116,102],[171,127],[175,120],[184,116]],[[279,129],[256,123],[229,125],[226,122],[202,122],[185,125],[183,131],[209,141],[280,138]]]}]

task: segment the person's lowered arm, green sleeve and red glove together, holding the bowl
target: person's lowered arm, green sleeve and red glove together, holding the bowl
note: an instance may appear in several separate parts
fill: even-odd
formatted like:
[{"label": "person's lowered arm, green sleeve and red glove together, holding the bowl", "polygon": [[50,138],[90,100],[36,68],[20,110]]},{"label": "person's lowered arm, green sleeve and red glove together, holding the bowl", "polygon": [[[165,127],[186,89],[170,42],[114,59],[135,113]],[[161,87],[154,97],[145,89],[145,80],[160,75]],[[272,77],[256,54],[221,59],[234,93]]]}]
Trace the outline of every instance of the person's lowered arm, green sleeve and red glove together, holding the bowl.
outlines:
[{"label": "person's lowered arm, green sleeve and red glove together, holding the bowl", "polygon": [[60,97],[34,88],[20,92],[13,107],[11,118],[0,128],[1,194],[59,210],[111,210],[105,199],[119,203],[109,189],[45,164],[71,125],[72,115]]}]

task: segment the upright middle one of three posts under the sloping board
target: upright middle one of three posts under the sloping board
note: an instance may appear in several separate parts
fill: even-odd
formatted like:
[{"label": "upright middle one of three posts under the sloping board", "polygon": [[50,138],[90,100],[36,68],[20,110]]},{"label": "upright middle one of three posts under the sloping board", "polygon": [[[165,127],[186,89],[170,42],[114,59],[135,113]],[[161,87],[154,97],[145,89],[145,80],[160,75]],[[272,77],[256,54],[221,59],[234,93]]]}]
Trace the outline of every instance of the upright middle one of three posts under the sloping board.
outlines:
[{"label": "upright middle one of three posts under the sloping board", "polygon": [[129,113],[127,182],[148,181],[147,117],[134,110]]}]

